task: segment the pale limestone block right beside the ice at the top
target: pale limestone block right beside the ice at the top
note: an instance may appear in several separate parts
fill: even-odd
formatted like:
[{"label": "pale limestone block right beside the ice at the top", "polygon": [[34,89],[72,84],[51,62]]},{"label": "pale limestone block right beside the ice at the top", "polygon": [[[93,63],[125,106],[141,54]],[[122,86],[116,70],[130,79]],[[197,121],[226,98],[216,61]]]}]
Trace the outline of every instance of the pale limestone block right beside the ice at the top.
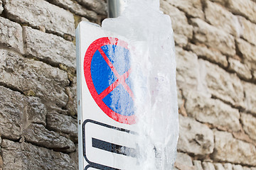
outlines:
[{"label": "pale limestone block right beside the ice at the top", "polygon": [[171,17],[172,28],[174,29],[174,40],[181,47],[186,46],[188,39],[193,37],[193,27],[188,24],[185,13],[178,8],[171,6],[166,1],[161,2],[161,10]]}]

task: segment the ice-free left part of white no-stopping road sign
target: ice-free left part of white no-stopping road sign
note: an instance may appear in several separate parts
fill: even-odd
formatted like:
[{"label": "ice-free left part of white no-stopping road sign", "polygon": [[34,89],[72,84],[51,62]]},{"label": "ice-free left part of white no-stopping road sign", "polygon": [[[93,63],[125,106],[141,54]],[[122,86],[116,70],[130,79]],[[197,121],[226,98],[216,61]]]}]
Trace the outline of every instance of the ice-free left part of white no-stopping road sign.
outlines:
[{"label": "ice-free left part of white no-stopping road sign", "polygon": [[76,45],[79,169],[137,169],[129,45],[87,22]]}]

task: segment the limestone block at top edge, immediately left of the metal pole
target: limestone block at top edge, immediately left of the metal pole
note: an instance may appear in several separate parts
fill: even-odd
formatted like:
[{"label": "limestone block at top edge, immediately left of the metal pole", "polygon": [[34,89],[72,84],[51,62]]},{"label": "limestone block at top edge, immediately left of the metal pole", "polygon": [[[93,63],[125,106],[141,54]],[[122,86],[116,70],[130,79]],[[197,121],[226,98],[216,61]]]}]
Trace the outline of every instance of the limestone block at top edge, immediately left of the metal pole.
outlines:
[{"label": "limestone block at top edge, immediately left of the metal pole", "polygon": [[92,9],[92,11],[95,11],[97,13],[100,13],[102,15],[107,14],[107,4],[105,1],[102,0],[76,0],[78,3],[87,6],[87,8]]}]

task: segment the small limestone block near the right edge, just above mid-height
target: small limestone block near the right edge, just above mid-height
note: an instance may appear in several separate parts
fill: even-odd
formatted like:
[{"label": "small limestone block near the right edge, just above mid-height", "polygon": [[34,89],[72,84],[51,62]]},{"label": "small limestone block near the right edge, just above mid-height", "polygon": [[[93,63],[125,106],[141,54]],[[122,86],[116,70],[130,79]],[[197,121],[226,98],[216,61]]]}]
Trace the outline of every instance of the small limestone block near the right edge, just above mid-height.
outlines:
[{"label": "small limestone block near the right edge, just above mid-height", "polygon": [[235,60],[233,58],[228,59],[229,62],[229,69],[232,72],[235,72],[238,74],[239,77],[242,77],[242,79],[250,80],[252,79],[252,74],[250,72],[250,68],[247,67],[247,65],[242,64],[240,61]]}]

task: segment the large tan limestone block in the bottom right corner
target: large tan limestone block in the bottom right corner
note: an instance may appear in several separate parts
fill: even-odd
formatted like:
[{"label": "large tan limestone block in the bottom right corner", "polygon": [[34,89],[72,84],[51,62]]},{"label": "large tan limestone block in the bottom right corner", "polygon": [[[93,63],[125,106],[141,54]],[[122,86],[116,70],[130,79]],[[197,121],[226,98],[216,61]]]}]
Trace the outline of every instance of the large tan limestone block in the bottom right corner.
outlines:
[{"label": "large tan limestone block in the bottom right corner", "polygon": [[229,132],[220,132],[216,130],[214,134],[214,161],[256,166],[256,148],[254,145],[241,140],[236,140]]}]

